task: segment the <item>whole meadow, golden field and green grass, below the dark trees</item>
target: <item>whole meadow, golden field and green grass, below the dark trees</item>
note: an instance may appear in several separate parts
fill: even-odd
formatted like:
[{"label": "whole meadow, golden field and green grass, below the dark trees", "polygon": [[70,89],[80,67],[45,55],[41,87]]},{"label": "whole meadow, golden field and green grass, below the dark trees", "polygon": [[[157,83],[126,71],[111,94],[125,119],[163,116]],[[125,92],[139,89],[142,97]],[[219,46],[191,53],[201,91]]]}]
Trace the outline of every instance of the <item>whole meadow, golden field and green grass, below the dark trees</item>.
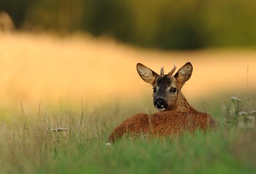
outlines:
[{"label": "whole meadow, golden field and green grass, below the dark trees", "polygon": [[[79,34],[0,37],[1,173],[256,172],[255,51],[164,52]],[[194,73],[183,94],[218,129],[106,146],[122,120],[156,112],[137,62],[158,72],[187,61]]]}]

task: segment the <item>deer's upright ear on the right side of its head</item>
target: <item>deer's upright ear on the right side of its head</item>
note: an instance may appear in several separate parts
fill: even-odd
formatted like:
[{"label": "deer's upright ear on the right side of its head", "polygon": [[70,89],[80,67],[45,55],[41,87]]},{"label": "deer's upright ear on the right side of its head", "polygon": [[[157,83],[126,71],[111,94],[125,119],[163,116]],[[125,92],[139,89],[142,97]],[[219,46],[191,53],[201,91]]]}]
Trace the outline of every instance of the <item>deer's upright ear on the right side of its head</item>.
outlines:
[{"label": "deer's upright ear on the right side of its head", "polygon": [[174,75],[174,77],[177,79],[177,82],[179,84],[185,84],[186,81],[189,80],[193,72],[193,67],[190,62],[186,63],[181,67],[177,73]]}]

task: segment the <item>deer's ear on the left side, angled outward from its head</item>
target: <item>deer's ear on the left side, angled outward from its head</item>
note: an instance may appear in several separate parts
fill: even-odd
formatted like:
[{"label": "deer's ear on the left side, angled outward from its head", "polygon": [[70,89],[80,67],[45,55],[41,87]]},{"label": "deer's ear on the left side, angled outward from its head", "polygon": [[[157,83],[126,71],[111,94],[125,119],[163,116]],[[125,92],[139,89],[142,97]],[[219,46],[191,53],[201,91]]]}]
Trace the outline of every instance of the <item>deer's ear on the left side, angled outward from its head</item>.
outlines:
[{"label": "deer's ear on the left side, angled outward from its head", "polygon": [[154,85],[155,79],[159,76],[157,73],[154,73],[154,71],[141,63],[137,63],[137,73],[145,82],[152,85]]}]

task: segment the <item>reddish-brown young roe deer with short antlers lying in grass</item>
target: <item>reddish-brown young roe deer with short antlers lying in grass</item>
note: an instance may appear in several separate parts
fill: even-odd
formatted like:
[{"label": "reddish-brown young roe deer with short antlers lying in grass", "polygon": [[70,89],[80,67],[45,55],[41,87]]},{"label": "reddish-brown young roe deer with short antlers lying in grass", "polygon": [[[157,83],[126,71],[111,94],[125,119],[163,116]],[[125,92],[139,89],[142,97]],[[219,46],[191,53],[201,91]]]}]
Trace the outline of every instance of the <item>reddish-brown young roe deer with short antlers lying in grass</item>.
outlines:
[{"label": "reddish-brown young roe deer with short antlers lying in grass", "polygon": [[162,67],[159,75],[143,64],[137,64],[137,72],[140,77],[153,86],[154,107],[162,112],[137,113],[131,118],[125,119],[108,137],[108,144],[115,142],[125,133],[131,136],[140,134],[180,136],[184,131],[194,132],[197,129],[205,131],[207,128],[216,126],[211,115],[196,111],[189,105],[181,92],[183,84],[191,77],[193,71],[191,63],[186,63],[172,76],[175,70],[176,66],[174,65],[170,73],[164,74]]}]

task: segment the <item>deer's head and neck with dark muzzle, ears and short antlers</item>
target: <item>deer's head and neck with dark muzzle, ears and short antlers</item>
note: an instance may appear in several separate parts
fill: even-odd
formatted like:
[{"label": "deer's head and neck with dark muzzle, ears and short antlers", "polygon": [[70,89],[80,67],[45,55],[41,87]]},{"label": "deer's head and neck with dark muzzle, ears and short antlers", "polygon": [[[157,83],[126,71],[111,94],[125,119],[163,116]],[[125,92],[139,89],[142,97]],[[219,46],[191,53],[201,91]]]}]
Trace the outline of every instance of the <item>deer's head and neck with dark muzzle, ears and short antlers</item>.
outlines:
[{"label": "deer's head and neck with dark muzzle, ears and short antlers", "polygon": [[141,63],[137,63],[137,73],[143,80],[153,86],[154,107],[160,111],[193,110],[183,96],[181,89],[183,84],[191,77],[193,67],[190,62],[181,67],[177,73],[176,65],[170,73],[164,73],[164,67],[160,69],[160,75]]}]

